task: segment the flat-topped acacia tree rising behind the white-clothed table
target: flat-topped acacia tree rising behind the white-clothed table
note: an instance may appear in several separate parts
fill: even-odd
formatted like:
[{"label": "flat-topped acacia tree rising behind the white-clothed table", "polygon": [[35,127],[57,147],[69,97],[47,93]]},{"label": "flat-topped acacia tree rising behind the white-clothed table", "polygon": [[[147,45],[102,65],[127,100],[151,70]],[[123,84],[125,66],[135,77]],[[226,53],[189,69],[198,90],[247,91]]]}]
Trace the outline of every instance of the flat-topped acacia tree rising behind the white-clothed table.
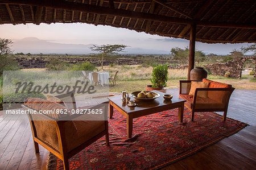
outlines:
[{"label": "flat-topped acacia tree rising behind the white-clothed table", "polygon": [[100,63],[101,63],[101,69],[103,69],[103,60],[105,59],[106,55],[117,55],[118,52],[125,52],[123,51],[125,47],[128,47],[127,45],[119,45],[119,44],[106,44],[106,45],[100,45],[96,46],[93,45],[93,47],[90,47],[92,51],[97,51],[99,53]]}]

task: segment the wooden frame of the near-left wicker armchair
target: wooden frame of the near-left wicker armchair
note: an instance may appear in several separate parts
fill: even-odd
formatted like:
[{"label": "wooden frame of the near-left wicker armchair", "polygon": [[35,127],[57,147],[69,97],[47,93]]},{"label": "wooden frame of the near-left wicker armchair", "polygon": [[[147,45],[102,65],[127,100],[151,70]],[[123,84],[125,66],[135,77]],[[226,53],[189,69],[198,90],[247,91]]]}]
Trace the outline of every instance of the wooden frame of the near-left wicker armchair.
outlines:
[{"label": "wooden frame of the near-left wicker armchair", "polygon": [[[57,96],[58,98],[60,98],[60,96]],[[63,94],[62,97],[67,97],[67,94]],[[72,95],[72,99],[73,101],[75,101],[75,98]],[[90,109],[97,109],[99,107],[104,106],[106,110],[108,110],[108,102],[105,103],[101,103],[100,105],[96,105],[93,107],[90,107]],[[28,113],[29,111],[31,111],[31,109],[27,106],[22,105],[24,110],[27,110]],[[53,155],[59,157],[59,159],[63,160],[63,165],[64,165],[64,169],[69,169],[69,163],[68,163],[68,159],[71,158],[73,155],[76,155],[78,152],[80,152],[81,150],[83,150],[85,147],[88,147],[90,144],[92,144],[93,142],[95,142],[96,140],[100,139],[102,136],[106,135],[106,146],[109,146],[109,132],[108,132],[108,121],[105,121],[105,130],[100,132],[99,134],[93,136],[93,138],[86,140],[84,143],[82,143],[80,146],[74,148],[71,151],[68,151],[67,149],[67,141],[66,136],[65,136],[65,125],[64,123],[68,122],[67,120],[63,120],[59,119],[56,120],[54,118],[48,117],[47,115],[44,114],[36,114],[38,116],[40,116],[41,118],[43,118],[43,121],[47,121],[48,123],[51,123],[55,128],[56,128],[56,132],[57,132],[57,140],[59,143],[59,151],[56,150],[56,148],[53,148],[50,144],[48,144],[46,141],[43,141],[42,139],[38,138],[38,131],[36,131],[36,127],[35,127],[35,123],[36,121],[34,121],[32,119],[32,115],[31,114],[27,114],[28,118],[30,119],[30,125],[31,125],[31,130],[32,130],[32,135],[33,135],[33,140],[34,140],[34,146],[35,146],[35,153],[39,152],[39,145],[43,146],[44,148],[46,148],[46,150],[48,150],[49,152],[51,152]],[[83,115],[83,114],[82,114]],[[70,115],[70,120],[76,120],[76,118],[82,116],[81,114],[73,114]],[[107,116],[107,115],[106,115]],[[76,140],[76,139],[74,139]]]}]

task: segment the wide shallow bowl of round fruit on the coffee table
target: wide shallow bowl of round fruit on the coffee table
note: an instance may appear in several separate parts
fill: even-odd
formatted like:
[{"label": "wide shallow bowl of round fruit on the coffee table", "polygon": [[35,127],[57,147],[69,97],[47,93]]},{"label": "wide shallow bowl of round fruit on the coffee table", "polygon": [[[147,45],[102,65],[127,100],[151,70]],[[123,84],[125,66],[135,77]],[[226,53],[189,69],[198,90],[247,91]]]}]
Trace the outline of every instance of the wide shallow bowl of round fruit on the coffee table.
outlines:
[{"label": "wide shallow bowl of round fruit on the coffee table", "polygon": [[131,93],[131,97],[138,99],[139,101],[151,101],[160,97],[160,94],[143,90]]}]

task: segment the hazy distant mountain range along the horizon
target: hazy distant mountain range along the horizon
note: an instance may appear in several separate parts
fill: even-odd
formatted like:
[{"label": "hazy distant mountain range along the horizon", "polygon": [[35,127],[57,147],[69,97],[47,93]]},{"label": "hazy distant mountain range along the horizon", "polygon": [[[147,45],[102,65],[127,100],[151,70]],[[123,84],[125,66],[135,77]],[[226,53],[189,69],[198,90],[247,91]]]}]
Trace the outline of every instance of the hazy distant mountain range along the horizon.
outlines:
[{"label": "hazy distant mountain range along the horizon", "polygon": [[[15,40],[12,49],[14,53],[43,53],[43,54],[73,54],[82,55],[93,53],[90,50],[93,44],[63,44],[53,43],[48,40],[40,40],[34,37],[28,37],[20,40]],[[96,45],[96,44],[95,44]],[[130,54],[168,54],[168,51],[158,51],[155,49],[143,48],[126,48],[126,53]]]}]

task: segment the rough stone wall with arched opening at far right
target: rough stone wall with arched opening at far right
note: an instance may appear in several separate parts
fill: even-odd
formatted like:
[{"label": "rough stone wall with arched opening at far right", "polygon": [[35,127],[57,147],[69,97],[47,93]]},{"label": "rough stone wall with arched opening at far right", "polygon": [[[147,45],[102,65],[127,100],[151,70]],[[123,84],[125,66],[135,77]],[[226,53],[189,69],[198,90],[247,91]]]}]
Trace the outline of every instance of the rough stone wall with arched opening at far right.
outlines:
[{"label": "rough stone wall with arched opening at far right", "polygon": [[226,63],[214,63],[204,65],[204,67],[213,75],[224,76],[226,72],[230,72],[230,77],[241,78],[243,64],[246,60],[252,59],[255,62],[254,77],[256,73],[256,57],[242,57],[241,59],[228,61]]}]

